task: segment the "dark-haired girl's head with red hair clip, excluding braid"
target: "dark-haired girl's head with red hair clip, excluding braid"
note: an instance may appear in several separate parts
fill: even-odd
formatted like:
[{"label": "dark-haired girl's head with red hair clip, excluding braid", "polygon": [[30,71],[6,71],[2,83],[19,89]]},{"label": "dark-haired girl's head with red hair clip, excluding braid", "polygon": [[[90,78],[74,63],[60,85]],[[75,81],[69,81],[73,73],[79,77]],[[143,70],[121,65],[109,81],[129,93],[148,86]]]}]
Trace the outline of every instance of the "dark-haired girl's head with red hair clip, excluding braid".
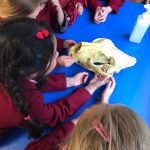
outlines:
[{"label": "dark-haired girl's head with red hair clip, excluding braid", "polygon": [[[48,36],[36,35],[46,30]],[[23,18],[6,22],[0,28],[1,78],[8,73],[17,77],[42,77],[56,64],[56,39],[51,29],[34,19]]]}]

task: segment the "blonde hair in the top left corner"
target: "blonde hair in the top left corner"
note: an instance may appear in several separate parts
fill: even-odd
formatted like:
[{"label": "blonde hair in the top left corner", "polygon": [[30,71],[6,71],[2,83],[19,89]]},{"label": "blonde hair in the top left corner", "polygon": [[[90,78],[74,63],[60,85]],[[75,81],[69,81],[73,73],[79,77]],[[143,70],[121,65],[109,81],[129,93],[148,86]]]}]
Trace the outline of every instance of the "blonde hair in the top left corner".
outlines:
[{"label": "blonde hair in the top left corner", "polygon": [[0,17],[25,17],[31,14],[41,0],[0,0]]}]

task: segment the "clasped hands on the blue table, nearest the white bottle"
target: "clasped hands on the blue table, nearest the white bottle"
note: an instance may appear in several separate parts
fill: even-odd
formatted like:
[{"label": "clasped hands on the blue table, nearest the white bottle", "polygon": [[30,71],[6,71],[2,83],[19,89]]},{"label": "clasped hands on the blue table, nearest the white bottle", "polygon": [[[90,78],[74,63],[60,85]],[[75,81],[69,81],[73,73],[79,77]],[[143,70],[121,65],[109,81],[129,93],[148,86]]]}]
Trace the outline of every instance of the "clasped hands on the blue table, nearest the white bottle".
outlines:
[{"label": "clasped hands on the blue table, nearest the white bottle", "polygon": [[112,11],[112,8],[109,6],[107,6],[107,7],[98,6],[95,11],[94,22],[96,24],[99,24],[100,22],[105,22],[108,14],[111,11]]}]

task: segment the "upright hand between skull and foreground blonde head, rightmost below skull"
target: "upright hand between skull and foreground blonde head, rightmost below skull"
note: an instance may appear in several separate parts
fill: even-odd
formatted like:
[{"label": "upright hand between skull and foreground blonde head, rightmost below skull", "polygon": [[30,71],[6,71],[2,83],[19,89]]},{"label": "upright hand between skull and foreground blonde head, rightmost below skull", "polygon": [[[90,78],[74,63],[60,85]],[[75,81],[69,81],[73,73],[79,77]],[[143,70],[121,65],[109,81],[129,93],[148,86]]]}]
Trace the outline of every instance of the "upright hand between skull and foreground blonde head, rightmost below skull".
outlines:
[{"label": "upright hand between skull and foreground blonde head, rightmost below skull", "polygon": [[102,93],[101,103],[108,103],[109,98],[112,95],[115,86],[116,86],[115,79],[113,77],[110,77],[107,86]]}]

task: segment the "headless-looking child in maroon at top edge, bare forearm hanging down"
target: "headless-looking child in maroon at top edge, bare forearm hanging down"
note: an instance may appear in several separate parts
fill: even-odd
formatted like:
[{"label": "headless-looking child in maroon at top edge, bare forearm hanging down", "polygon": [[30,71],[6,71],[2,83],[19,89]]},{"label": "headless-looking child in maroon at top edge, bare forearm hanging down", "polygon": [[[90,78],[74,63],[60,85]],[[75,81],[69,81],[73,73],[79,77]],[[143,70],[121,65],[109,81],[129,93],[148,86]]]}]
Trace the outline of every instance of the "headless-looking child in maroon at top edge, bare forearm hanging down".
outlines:
[{"label": "headless-looking child in maroon at top edge, bare forearm hanging down", "polygon": [[[82,15],[86,0],[45,0],[41,5],[37,19],[46,21],[55,32],[65,32],[72,25],[78,15]],[[43,3],[43,1],[41,1]],[[38,8],[34,11],[36,12]],[[33,13],[34,13],[33,12]]]}]

